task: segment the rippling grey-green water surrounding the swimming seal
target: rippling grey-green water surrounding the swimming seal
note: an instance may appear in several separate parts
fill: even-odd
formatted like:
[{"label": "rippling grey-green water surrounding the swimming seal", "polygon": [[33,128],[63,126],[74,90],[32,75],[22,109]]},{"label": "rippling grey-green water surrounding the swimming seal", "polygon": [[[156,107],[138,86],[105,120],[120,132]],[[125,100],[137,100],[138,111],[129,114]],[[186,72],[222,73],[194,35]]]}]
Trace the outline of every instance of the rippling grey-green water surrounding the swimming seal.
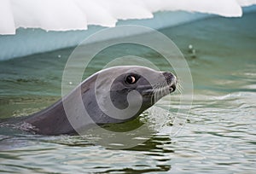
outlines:
[{"label": "rippling grey-green water surrounding the swimming seal", "polygon": [[[156,130],[148,141],[117,150],[80,136],[38,136],[1,127],[0,171],[253,173],[256,163],[255,17],[256,14],[246,14],[241,19],[218,17],[161,31],[182,50],[194,82],[189,118],[176,136],[165,131],[172,124],[165,125],[166,129]],[[195,53],[189,51],[189,44]],[[1,119],[31,114],[58,100],[62,70],[72,50],[2,61]],[[104,59],[92,62],[84,78],[101,69],[113,55],[125,53],[159,59],[157,53],[148,49],[119,45],[98,55]],[[155,63],[161,69],[168,68],[162,61]],[[178,107],[182,106],[172,102],[171,113]]]}]

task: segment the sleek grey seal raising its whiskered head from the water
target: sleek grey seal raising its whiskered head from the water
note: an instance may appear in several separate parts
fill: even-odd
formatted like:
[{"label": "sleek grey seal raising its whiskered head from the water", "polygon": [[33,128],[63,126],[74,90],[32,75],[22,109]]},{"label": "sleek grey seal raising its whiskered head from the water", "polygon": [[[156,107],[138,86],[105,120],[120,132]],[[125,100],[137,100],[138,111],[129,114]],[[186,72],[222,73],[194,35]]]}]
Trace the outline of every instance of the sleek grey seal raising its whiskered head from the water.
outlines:
[{"label": "sleek grey seal raising its whiskered head from the water", "polygon": [[[170,72],[119,66],[86,78],[67,96],[20,122],[25,131],[42,135],[76,134],[89,125],[123,123],[137,118],[176,89]],[[85,118],[85,119],[84,119]]]}]

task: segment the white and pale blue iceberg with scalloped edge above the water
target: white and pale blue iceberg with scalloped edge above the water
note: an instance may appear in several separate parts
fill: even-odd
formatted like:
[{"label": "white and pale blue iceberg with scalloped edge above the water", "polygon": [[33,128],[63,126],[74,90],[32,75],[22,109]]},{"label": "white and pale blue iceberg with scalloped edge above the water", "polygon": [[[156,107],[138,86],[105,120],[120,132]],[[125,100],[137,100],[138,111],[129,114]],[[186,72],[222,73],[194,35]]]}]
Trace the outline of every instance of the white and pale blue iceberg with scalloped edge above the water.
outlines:
[{"label": "white and pale blue iceberg with scalloped edge above the water", "polygon": [[[105,27],[140,25],[160,29],[212,14],[240,17],[243,11],[256,9],[252,6],[256,0],[2,0],[1,3],[0,61],[72,47]],[[250,7],[242,8],[245,6]]]}]

